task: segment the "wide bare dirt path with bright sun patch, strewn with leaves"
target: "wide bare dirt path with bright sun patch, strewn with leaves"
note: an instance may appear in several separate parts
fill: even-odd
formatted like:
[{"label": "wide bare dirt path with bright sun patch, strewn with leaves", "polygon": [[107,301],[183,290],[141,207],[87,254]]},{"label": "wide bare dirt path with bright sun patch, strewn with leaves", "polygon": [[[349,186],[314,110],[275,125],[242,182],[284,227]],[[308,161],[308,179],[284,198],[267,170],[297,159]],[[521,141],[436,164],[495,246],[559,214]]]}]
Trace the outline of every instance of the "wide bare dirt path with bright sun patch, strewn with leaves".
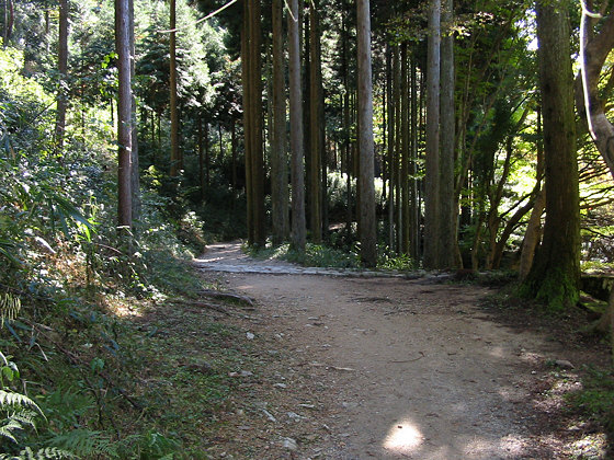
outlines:
[{"label": "wide bare dirt path with bright sun patch, strewn with leaves", "polygon": [[258,366],[236,375],[243,393],[213,458],[605,458],[605,435],[570,427],[555,391],[572,391],[578,369],[605,355],[561,344],[527,315],[500,321],[481,307],[496,288],[316,273],[250,258],[238,242],[195,264],[255,306],[232,319]]}]

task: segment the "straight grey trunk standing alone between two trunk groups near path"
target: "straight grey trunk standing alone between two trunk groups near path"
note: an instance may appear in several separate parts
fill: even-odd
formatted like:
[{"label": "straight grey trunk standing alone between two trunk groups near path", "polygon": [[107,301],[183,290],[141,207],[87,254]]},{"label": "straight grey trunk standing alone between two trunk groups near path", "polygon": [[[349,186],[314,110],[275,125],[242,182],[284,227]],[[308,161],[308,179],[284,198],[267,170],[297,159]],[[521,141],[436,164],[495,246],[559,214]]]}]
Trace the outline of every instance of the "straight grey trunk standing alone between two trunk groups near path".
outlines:
[{"label": "straight grey trunk standing alone between two trunk groups near path", "polygon": [[371,69],[371,13],[368,0],[356,0],[357,60],[359,60],[359,237],[361,260],[366,266],[377,264],[377,234],[375,222],[374,140],[373,140],[373,82]]}]

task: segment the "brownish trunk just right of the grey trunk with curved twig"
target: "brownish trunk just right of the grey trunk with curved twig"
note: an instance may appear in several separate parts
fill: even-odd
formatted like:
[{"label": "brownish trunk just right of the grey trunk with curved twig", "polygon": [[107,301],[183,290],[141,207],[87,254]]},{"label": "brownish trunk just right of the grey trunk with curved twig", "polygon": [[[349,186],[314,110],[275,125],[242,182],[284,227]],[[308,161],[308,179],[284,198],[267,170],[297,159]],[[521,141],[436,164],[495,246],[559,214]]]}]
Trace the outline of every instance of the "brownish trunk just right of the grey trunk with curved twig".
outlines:
[{"label": "brownish trunk just right of the grey trunk with curved twig", "polygon": [[321,219],[321,159],[323,157],[322,136],[323,119],[322,68],[320,60],[320,27],[318,18],[318,0],[309,2],[309,134],[310,134],[310,181],[309,181],[309,228],[314,243],[322,241]]}]

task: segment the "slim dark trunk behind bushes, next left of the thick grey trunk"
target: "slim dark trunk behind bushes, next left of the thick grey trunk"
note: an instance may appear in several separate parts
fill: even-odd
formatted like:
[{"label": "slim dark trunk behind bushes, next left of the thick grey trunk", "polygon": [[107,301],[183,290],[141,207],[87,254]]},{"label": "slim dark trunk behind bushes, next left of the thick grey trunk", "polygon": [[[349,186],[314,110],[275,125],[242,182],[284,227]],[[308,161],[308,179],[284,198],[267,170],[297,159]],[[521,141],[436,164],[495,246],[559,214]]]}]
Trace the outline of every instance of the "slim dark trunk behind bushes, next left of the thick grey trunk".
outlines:
[{"label": "slim dark trunk behind bushes, next left of the thick grey trunk", "polygon": [[[59,2],[59,35],[58,35],[58,72],[59,84],[56,114],[56,152],[62,153],[64,131],[66,129],[66,111],[68,107],[68,0]],[[7,42],[4,42],[4,45]]]}]

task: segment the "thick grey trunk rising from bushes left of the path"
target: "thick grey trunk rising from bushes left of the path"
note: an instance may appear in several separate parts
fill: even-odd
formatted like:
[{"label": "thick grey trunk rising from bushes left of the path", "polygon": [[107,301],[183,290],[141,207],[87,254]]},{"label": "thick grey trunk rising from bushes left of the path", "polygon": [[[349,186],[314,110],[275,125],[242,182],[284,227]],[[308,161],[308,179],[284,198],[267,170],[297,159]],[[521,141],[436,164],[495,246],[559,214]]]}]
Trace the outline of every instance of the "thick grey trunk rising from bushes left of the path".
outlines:
[{"label": "thick grey trunk rising from bushes left of the path", "polygon": [[115,50],[117,53],[117,226],[132,228],[132,81],[130,2],[115,0]]}]

